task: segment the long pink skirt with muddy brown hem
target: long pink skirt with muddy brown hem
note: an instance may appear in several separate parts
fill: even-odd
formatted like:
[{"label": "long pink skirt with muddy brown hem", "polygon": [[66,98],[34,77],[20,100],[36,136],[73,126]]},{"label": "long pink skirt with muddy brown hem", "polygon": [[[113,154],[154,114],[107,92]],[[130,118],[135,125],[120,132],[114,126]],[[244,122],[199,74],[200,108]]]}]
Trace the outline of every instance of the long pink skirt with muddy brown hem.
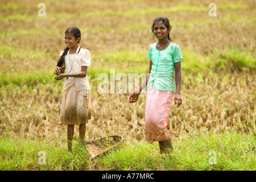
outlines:
[{"label": "long pink skirt with muddy brown hem", "polygon": [[163,141],[171,139],[168,127],[168,113],[174,92],[147,90],[145,109],[145,137],[148,141]]}]

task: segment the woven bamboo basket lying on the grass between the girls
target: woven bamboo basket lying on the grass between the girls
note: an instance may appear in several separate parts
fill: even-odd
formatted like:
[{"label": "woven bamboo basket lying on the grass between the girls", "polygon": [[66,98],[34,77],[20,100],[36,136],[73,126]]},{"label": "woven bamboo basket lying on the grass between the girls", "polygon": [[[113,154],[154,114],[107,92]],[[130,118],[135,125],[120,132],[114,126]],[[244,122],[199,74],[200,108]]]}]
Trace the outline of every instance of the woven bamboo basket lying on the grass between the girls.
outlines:
[{"label": "woven bamboo basket lying on the grass between the girls", "polygon": [[85,142],[85,146],[93,159],[98,155],[104,154],[106,151],[117,147],[123,141],[120,135],[111,135],[108,137],[96,138]]}]

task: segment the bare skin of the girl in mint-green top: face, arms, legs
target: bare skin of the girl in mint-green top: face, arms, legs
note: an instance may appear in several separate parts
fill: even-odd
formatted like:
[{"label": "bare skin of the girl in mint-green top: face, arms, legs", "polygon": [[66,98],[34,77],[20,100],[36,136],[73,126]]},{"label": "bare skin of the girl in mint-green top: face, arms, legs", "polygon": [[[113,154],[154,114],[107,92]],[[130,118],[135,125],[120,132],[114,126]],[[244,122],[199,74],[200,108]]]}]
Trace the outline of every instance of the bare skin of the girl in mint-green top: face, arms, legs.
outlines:
[{"label": "bare skin of the girl in mint-green top: face, arms, legs", "polygon": [[[156,22],[154,25],[154,36],[158,38],[158,43],[156,44],[156,49],[159,51],[162,51],[168,47],[169,44],[171,44],[171,41],[168,40],[168,34],[170,34],[171,29],[167,29],[165,24],[163,22]],[[174,96],[174,103],[179,107],[182,104],[182,99],[180,96],[180,85],[181,85],[181,63],[175,63],[175,82],[176,82],[176,92]],[[150,73],[151,73],[151,68],[152,68],[152,61],[150,60],[150,66],[149,66],[149,71],[147,74],[147,78],[143,80],[142,84],[139,86],[139,90],[134,90],[133,93],[130,94],[129,97],[129,103],[137,102],[139,93],[143,90],[143,88],[147,85],[147,82],[150,78]],[[169,140],[164,140],[164,141],[159,141],[159,148],[160,152],[166,153],[172,148],[172,142],[171,139]]]}]

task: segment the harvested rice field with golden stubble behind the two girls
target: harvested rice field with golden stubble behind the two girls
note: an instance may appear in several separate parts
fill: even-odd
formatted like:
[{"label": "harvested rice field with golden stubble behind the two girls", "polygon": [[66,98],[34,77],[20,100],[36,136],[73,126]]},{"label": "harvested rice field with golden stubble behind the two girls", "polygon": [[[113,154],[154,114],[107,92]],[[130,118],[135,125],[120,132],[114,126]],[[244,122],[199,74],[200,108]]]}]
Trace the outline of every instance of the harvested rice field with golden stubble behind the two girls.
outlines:
[{"label": "harvested rice field with golden stubble behind the two girls", "polygon": [[[39,3],[46,7],[45,16],[40,16]],[[52,73],[65,48],[65,30],[76,26],[80,46],[91,54],[92,119],[86,124],[86,140],[121,135],[143,142],[146,94],[129,104],[129,93],[99,93],[98,75],[108,75],[109,83],[114,78],[116,86],[119,73],[127,80],[129,73],[146,74],[148,46],[157,42],[151,24],[158,16],[170,20],[172,42],[184,57],[183,104],[172,104],[168,116],[174,141],[195,133],[224,136],[233,131],[255,139],[256,4],[214,1],[217,16],[209,16],[210,3],[0,0],[0,139],[52,139],[66,145],[67,129],[58,125],[64,81],[56,81]],[[255,147],[254,142],[251,155]]]}]

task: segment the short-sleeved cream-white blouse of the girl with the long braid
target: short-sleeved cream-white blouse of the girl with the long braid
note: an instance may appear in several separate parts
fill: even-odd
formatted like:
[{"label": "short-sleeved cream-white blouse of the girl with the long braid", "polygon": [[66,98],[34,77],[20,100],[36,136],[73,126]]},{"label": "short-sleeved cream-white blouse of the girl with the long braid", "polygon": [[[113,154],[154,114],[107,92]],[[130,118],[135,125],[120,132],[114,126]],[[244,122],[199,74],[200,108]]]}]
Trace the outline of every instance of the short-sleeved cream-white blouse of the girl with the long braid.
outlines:
[{"label": "short-sleeved cream-white blouse of the girl with the long braid", "polygon": [[[79,49],[80,46],[77,48],[76,53],[70,54],[68,51],[65,56],[65,61],[62,67],[65,67],[65,71],[68,74],[79,73],[82,71],[82,67],[90,67],[90,51],[83,48],[79,51]],[[60,52],[60,56],[63,52],[64,51]],[[86,77],[66,77],[63,89],[65,90],[73,84],[76,86],[76,91],[90,89],[87,75]]]}]

